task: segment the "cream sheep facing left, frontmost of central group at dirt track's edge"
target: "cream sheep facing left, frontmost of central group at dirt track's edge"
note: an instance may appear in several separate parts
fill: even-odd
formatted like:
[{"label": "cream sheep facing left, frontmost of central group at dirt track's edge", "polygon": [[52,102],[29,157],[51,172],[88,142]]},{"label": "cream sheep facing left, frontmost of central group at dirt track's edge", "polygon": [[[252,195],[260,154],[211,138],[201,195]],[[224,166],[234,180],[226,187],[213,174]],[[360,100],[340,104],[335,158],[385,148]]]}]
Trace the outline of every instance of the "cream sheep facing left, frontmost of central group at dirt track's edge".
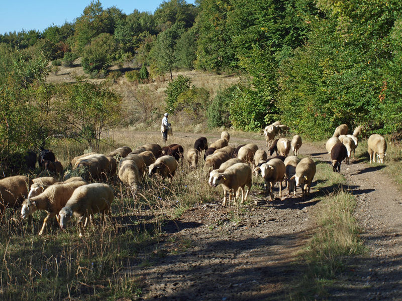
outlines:
[{"label": "cream sheep facing left, frontmost of central group at dirt track's edge", "polygon": [[[251,189],[251,168],[245,163],[237,163],[227,168],[223,173],[215,173],[212,179],[212,186],[222,185],[224,199],[222,207],[226,206],[226,192],[229,193],[229,202],[232,198],[231,191],[238,189],[242,191],[242,199],[240,204],[247,201],[249,191]],[[244,187],[247,186],[247,192],[244,193]],[[234,200],[235,204],[235,200]]]}]

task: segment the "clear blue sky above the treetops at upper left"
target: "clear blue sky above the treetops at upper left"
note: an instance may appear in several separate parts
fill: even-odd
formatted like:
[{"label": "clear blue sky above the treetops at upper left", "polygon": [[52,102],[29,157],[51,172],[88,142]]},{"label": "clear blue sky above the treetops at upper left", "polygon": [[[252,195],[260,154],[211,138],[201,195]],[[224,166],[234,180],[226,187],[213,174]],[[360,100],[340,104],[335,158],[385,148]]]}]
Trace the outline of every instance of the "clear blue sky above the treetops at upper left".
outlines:
[{"label": "clear blue sky above the treetops at upper left", "polygon": [[[126,15],[135,9],[140,12],[154,13],[163,0],[100,0],[102,6],[108,9],[116,6]],[[194,4],[194,0],[186,0]],[[8,0],[2,3],[0,9],[0,34],[23,29],[32,29],[42,32],[49,26],[61,26],[64,22],[72,23],[75,18],[81,16],[90,0]]]}]

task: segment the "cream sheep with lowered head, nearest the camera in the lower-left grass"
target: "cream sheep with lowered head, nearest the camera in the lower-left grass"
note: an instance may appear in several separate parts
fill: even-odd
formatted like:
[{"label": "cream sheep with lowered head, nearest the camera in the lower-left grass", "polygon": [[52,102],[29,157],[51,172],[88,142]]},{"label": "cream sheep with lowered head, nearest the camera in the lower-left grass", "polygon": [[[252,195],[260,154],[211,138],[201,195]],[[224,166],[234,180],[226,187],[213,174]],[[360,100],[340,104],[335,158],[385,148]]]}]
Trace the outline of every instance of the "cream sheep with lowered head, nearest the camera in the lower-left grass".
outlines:
[{"label": "cream sheep with lowered head, nearest the camera in the lower-left grass", "polygon": [[[88,217],[95,213],[104,215],[110,213],[114,198],[113,189],[107,184],[92,183],[78,187],[58,214],[61,229],[66,228],[74,214],[80,221],[79,237],[82,237],[82,228],[86,226]],[[82,227],[83,218],[85,223]]]}]

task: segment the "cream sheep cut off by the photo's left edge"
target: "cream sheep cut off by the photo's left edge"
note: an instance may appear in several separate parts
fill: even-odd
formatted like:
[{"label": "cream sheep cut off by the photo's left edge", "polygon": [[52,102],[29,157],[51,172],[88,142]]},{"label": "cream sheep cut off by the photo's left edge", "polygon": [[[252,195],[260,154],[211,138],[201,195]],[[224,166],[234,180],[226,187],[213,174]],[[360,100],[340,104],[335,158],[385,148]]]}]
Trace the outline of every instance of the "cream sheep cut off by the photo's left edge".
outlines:
[{"label": "cream sheep cut off by the photo's left edge", "polygon": [[12,176],[0,180],[0,217],[7,207],[15,208],[28,196],[33,184],[26,176]]}]

